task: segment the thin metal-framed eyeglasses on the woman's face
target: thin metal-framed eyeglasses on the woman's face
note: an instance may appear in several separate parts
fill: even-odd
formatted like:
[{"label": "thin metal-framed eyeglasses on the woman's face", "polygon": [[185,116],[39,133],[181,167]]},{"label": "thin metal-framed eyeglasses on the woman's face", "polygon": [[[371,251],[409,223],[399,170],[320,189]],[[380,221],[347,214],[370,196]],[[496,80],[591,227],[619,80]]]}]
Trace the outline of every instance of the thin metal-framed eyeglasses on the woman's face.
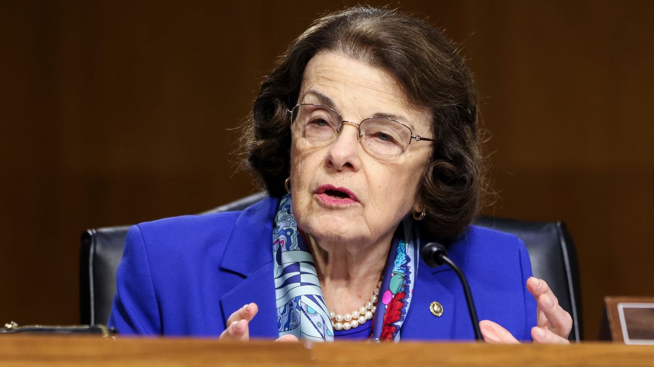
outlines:
[{"label": "thin metal-framed eyeglasses on the woman's face", "polygon": [[364,148],[381,155],[400,155],[409,148],[411,140],[434,141],[413,135],[404,123],[387,118],[367,118],[360,123],[345,121],[338,112],[320,104],[301,103],[286,112],[290,114],[292,131],[307,140],[332,140],[341,132],[343,124],[349,123],[358,128],[357,140]]}]

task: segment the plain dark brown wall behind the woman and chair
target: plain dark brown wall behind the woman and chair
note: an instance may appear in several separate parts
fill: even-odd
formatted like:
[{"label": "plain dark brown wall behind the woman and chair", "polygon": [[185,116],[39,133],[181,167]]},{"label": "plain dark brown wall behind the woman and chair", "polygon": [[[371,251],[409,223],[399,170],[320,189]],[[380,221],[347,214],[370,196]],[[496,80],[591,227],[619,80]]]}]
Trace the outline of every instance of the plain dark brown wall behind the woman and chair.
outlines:
[{"label": "plain dark brown wall behind the woman and chair", "polygon": [[[0,3],[0,321],[78,322],[84,229],[253,191],[230,129],[275,56],[343,4]],[[587,338],[602,296],[654,295],[654,2],[399,7],[470,59],[502,196],[486,212],[568,223]]]}]

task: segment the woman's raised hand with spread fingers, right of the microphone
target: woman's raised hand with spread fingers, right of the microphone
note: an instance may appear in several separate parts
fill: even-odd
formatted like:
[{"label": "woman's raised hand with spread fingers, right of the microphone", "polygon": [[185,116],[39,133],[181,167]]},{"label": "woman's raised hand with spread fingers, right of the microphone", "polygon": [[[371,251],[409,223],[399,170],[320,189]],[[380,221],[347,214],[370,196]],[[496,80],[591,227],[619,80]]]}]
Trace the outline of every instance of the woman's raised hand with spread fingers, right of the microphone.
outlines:
[{"label": "woman's raised hand with spread fingers, right of the microphone", "polygon": [[[536,298],[538,321],[532,328],[532,338],[536,343],[569,344],[568,335],[572,330],[570,313],[559,306],[559,300],[542,279],[527,279],[526,287]],[[490,320],[479,322],[481,335],[487,343],[519,343],[506,328]]]}]

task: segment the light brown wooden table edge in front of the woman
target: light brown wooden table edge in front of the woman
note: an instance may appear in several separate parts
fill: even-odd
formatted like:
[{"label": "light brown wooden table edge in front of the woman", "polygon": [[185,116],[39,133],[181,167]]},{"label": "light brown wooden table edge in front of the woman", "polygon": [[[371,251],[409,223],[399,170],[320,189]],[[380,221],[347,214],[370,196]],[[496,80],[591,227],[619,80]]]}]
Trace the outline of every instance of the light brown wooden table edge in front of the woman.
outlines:
[{"label": "light brown wooden table edge in front of the woman", "polygon": [[654,366],[654,346],[223,343],[15,335],[0,336],[0,366]]}]

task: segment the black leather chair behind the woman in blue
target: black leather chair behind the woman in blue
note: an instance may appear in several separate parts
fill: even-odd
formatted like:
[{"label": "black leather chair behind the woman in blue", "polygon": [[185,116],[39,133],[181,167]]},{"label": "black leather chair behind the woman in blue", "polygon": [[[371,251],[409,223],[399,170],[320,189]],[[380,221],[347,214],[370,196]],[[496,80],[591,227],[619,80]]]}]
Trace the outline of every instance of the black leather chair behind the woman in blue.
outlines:
[{"label": "black leather chair behind the woman in blue", "polygon": [[[264,193],[218,206],[203,214],[241,210],[265,197]],[[527,247],[534,276],[545,279],[574,321],[570,340],[581,340],[579,272],[572,238],[564,223],[480,217],[477,225],[509,232]],[[82,324],[107,323],[116,293],[116,268],[122,257],[129,226],[89,229],[82,234],[80,251],[80,313]]]}]

